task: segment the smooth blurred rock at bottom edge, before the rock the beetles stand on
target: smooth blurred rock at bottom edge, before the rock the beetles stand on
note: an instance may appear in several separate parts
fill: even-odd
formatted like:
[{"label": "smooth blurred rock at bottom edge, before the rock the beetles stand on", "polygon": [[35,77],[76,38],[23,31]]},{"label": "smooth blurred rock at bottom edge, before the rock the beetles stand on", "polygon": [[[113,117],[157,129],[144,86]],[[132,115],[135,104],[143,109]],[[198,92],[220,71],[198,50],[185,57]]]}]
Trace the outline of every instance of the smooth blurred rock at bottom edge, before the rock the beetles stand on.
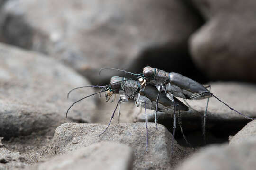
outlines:
[{"label": "smooth blurred rock at bottom edge, before the rock the beetles stand on", "polygon": [[27,170],[131,170],[132,149],[116,142],[101,142],[37,163]]}]

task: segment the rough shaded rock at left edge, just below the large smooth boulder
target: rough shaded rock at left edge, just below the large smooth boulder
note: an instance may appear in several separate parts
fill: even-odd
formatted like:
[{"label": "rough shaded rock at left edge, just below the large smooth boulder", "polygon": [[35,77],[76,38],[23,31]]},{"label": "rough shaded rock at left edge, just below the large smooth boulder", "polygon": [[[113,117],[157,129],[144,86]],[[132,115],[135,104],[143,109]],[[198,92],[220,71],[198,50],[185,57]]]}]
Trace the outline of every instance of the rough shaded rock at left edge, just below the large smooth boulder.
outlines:
[{"label": "rough shaded rock at left edge, just below the large smooth boulder", "polygon": [[0,99],[0,136],[27,136],[70,121],[60,118],[57,110]]}]

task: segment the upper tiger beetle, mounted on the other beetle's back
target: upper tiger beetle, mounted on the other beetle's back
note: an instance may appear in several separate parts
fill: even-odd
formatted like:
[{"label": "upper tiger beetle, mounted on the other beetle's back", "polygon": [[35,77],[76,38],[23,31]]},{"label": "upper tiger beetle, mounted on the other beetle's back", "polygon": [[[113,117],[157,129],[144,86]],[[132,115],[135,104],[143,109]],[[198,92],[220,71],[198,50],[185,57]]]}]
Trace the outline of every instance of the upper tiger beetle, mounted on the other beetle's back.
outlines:
[{"label": "upper tiger beetle, mounted on the other beetle's back", "polygon": [[[105,69],[111,69],[111,70],[117,70],[122,71],[124,73],[128,73],[134,76],[138,77],[138,80],[140,81],[141,88],[145,88],[146,85],[153,85],[157,88],[158,95],[156,99],[156,109],[155,109],[155,124],[157,128],[157,113],[158,113],[158,103],[159,103],[159,96],[162,91],[165,92],[165,95],[168,99],[170,99],[172,102],[175,103],[174,96],[181,97],[183,99],[189,99],[189,100],[199,100],[199,99],[207,99],[206,103],[206,109],[203,115],[203,123],[202,123],[202,133],[204,137],[204,143],[206,144],[205,139],[205,123],[206,123],[206,113],[208,108],[208,102],[210,97],[214,97],[219,102],[222,102],[224,105],[226,105],[230,110],[237,112],[239,115],[255,120],[256,118],[251,118],[247,115],[244,115],[237,110],[230,107],[228,104],[220,100],[217,96],[215,96],[213,93],[210,92],[210,85],[203,86],[200,83],[183,76],[179,73],[168,73],[164,70],[160,70],[158,68],[152,68],[150,66],[146,66],[143,68],[143,72],[140,74],[131,73],[125,70],[116,69],[116,68],[101,68],[99,70],[99,74],[102,70]],[[174,107],[176,107],[176,104],[174,104]],[[174,109],[175,110],[175,109]]]}]

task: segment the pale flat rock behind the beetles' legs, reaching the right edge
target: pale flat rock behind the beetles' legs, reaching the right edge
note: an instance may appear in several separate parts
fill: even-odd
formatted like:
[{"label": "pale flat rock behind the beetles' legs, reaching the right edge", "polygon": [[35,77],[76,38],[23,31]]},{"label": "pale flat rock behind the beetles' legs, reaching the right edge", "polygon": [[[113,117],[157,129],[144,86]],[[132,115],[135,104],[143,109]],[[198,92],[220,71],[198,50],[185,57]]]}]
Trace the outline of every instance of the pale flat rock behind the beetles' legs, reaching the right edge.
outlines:
[{"label": "pale flat rock behind the beetles' legs, reaching the right edge", "polygon": [[[226,102],[230,107],[238,110],[239,112],[249,116],[256,117],[256,105],[252,103],[256,99],[256,86],[246,83],[210,83],[211,92],[216,95],[223,102]],[[183,100],[181,99],[183,102]],[[190,109],[185,112],[181,112],[184,128],[197,127],[201,128],[201,116],[204,114],[207,100],[186,100],[190,105]],[[185,104],[185,102],[183,102]],[[155,111],[147,110],[148,121],[154,121]],[[159,113],[159,121],[165,125],[170,126],[172,122],[173,114]],[[133,119],[135,121],[145,122],[144,109],[136,109],[133,113]],[[207,118],[208,128],[232,128],[238,127],[239,122],[244,124],[249,119],[244,118],[235,111],[231,111],[223,103],[219,102],[216,98],[211,97],[208,104]],[[189,126],[186,123],[189,122]],[[233,123],[232,123],[233,122]],[[218,125],[213,126],[213,125]]]}]

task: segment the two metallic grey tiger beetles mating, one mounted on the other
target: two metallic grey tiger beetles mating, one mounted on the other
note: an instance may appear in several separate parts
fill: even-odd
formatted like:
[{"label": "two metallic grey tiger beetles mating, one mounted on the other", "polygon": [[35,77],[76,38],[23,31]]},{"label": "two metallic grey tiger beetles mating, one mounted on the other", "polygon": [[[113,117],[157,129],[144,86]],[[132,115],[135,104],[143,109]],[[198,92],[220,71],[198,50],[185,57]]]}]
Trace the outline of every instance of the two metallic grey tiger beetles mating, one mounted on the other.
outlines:
[{"label": "two metallic grey tiger beetles mating, one mounted on the other", "polygon": [[[129,99],[133,99],[137,106],[143,106],[145,107],[145,114],[146,109],[152,109],[155,110],[155,123],[157,128],[157,113],[158,111],[171,111],[174,114],[174,128],[173,128],[173,137],[175,135],[175,128],[176,128],[176,118],[175,118],[175,111],[179,112],[178,118],[180,118],[180,111],[186,111],[188,110],[188,107],[183,104],[183,102],[179,101],[176,97],[181,97],[183,99],[190,99],[190,100],[198,100],[198,99],[206,99],[210,97],[215,97],[217,100],[222,102],[218,97],[216,97],[213,93],[210,92],[210,90],[207,90],[207,88],[196,81],[185,77],[178,73],[168,73],[163,70],[157,69],[157,68],[151,68],[149,66],[145,67],[143,69],[142,74],[134,74],[131,72],[127,72],[124,70],[116,69],[116,68],[101,68],[99,71],[99,74],[104,69],[112,69],[112,70],[118,70],[122,71],[134,76],[137,76],[135,78],[127,79],[124,77],[118,77],[114,76],[111,78],[110,84],[106,86],[84,86],[84,87],[100,87],[102,88],[100,92],[106,91],[106,102],[108,102],[113,94],[120,94],[119,101],[117,103],[117,106],[110,118],[110,122],[107,126],[109,127],[111,120],[113,119],[114,113],[118,107],[118,104],[120,102],[128,102]],[[137,79],[137,81],[133,80]],[[154,87],[155,86],[155,87]],[[83,87],[78,87],[83,88]],[[77,88],[75,88],[77,89]],[[157,89],[157,90],[156,90]],[[72,89],[74,90],[74,89]],[[72,91],[71,90],[71,91]],[[92,95],[95,95],[97,93],[94,93]],[[86,96],[77,102],[90,97],[92,95]],[[74,102],[70,108],[75,104]],[[165,103],[165,104],[163,104]],[[226,103],[225,104],[229,109],[234,110]],[[208,101],[207,101],[208,105]],[[70,109],[69,108],[69,109]],[[68,109],[68,110],[69,110]],[[67,110],[67,112],[68,112]],[[244,116],[247,119],[255,119],[248,117],[237,110],[234,110],[238,114]],[[203,119],[203,135],[205,136],[205,119],[206,119],[206,112],[207,112],[207,106],[204,113],[204,119]],[[119,107],[119,113],[120,113],[120,107]],[[180,119],[179,119],[180,122]],[[180,124],[181,127],[181,124]],[[107,128],[101,133],[103,134]],[[146,118],[146,131],[147,131],[147,118]],[[183,133],[182,127],[181,131]],[[101,135],[100,134],[100,135]],[[184,134],[183,134],[184,136]],[[185,138],[185,136],[184,136]],[[186,140],[186,138],[185,138]],[[187,142],[187,140],[186,140]],[[147,148],[147,145],[146,145]]]}]

